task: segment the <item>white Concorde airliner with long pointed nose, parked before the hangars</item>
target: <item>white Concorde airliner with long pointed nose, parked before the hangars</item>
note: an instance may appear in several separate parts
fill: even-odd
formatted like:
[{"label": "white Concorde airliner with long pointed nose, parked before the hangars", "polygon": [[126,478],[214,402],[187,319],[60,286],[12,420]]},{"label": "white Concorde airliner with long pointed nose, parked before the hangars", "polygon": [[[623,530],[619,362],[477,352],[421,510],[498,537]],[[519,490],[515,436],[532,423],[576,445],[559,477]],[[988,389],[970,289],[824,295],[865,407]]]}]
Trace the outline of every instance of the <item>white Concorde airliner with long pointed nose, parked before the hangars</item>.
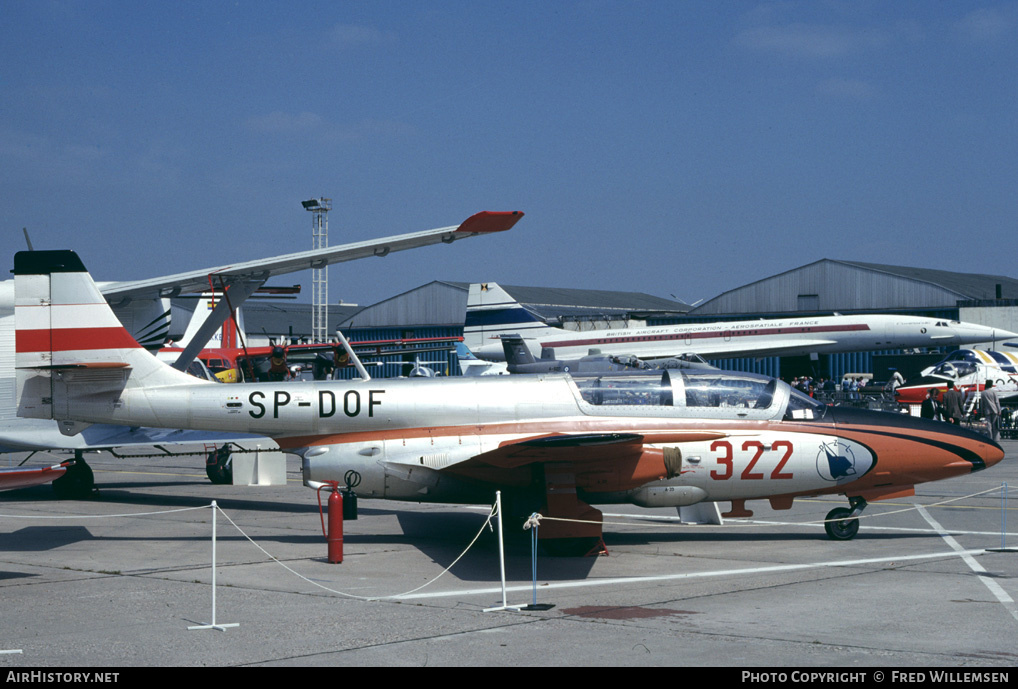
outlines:
[{"label": "white Concorde airliner with long pointed nose, parked before the hangars", "polygon": [[547,325],[494,282],[470,285],[463,344],[478,359],[504,361],[499,339],[520,335],[535,358],[590,353],[641,359],[697,354],[708,359],[943,347],[1018,338],[1006,330],[914,315],[817,315],[568,331]]}]

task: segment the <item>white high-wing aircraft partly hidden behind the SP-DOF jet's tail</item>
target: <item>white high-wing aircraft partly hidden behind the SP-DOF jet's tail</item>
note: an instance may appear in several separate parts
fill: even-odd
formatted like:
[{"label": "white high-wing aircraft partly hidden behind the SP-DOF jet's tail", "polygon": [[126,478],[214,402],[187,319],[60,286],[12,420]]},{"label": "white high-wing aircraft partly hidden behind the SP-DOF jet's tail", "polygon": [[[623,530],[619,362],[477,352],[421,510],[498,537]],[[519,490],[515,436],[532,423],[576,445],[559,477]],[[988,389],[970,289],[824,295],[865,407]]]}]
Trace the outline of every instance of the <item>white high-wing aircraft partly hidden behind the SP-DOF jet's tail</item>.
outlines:
[{"label": "white high-wing aircraft partly hidden behind the SP-DOF jet's tail", "polygon": [[[385,256],[393,251],[450,244],[467,237],[488,235],[512,228],[523,217],[520,212],[490,212],[474,214],[459,225],[434,230],[370,239],[308,251],[298,251],[259,261],[218,266],[188,273],[137,280],[131,282],[105,282],[99,284],[103,297],[113,306],[121,323],[131,336],[150,349],[162,346],[169,329],[169,297],[184,292],[202,292],[209,289],[210,276],[217,288],[228,287],[229,305],[239,306],[268,279],[296,271],[322,268],[329,264],[354,261],[367,256]],[[218,308],[207,319],[207,332],[192,339],[194,352],[218,330],[229,315],[227,300],[221,299]],[[202,338],[205,340],[202,340]],[[119,424],[96,424],[84,433],[67,436],[61,434],[55,421],[17,418],[14,385],[14,281],[0,282],[0,452],[32,450],[82,450],[108,449],[139,445],[180,443],[223,443],[237,440],[237,434],[186,433],[180,429],[131,427]],[[186,352],[185,352],[186,354]],[[181,359],[184,355],[181,355]],[[189,359],[188,359],[189,360]],[[179,362],[179,361],[178,361]],[[36,482],[53,480],[63,470],[40,467]],[[33,474],[25,468],[0,470],[0,490],[31,484]],[[68,476],[69,478],[69,476]],[[86,485],[72,493],[91,491],[91,471],[83,477]],[[67,483],[65,483],[66,485]]]}]

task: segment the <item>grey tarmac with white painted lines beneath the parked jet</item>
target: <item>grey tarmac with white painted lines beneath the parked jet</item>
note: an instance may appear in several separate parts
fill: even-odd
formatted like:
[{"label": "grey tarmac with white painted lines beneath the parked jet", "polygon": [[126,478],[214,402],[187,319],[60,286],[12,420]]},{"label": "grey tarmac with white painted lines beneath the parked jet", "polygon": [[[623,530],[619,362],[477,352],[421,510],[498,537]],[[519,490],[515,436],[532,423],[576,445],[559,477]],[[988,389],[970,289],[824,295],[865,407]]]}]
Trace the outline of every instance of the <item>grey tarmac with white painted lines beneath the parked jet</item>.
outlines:
[{"label": "grey tarmac with white painted lines beneath the parked jet", "polygon": [[[722,526],[604,506],[609,555],[539,553],[536,601],[553,607],[521,612],[486,612],[503,602],[489,507],[360,500],[344,560],[330,564],[295,459],[285,486],[224,486],[201,457],[91,455],[95,499],[56,501],[49,485],[0,494],[0,673],[1013,668],[1018,553],[986,550],[1018,549],[1018,441],[1004,447],[996,467],[871,504],[850,541],[819,524],[843,498],[781,512],[752,502],[754,517]],[[506,533],[505,558],[506,600],[531,604],[529,532]],[[224,630],[189,629],[213,621]]]}]

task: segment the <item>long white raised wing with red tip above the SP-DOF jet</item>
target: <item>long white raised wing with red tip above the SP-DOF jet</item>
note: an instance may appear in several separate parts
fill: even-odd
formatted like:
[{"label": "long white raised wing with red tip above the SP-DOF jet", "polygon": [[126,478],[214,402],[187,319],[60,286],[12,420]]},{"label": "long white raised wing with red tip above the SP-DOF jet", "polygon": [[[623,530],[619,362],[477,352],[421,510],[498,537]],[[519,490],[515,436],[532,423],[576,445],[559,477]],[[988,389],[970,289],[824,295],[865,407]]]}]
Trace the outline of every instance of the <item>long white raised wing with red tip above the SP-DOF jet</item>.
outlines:
[{"label": "long white raised wing with red tip above the SP-DOF jet", "polygon": [[[384,256],[392,251],[428,246],[438,243],[452,243],[459,239],[475,237],[478,234],[504,232],[512,228],[523,214],[519,211],[476,213],[461,224],[436,230],[411,232],[381,239],[330,246],[322,249],[297,251],[248,261],[246,263],[217,266],[189,273],[178,273],[162,278],[130,282],[108,282],[99,285],[103,296],[110,303],[134,298],[157,298],[175,296],[183,292],[201,292],[209,288],[209,276],[221,277],[226,284],[238,282],[264,283],[269,278],[297,271],[325,268],[330,264],[354,261],[372,255]],[[218,287],[219,285],[217,285]]]}]

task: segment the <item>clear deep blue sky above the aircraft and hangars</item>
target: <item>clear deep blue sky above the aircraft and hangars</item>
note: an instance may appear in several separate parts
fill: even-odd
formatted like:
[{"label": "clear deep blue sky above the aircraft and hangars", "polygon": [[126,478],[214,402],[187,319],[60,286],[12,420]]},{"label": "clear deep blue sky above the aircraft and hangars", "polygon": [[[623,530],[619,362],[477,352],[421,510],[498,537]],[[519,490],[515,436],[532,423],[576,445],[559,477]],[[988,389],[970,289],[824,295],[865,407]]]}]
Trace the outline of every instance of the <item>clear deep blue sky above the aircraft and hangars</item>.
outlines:
[{"label": "clear deep blue sky above the aircraft and hangars", "polygon": [[[830,257],[1018,275],[1018,4],[0,3],[3,254],[126,280],[523,211],[330,270],[687,302]],[[296,274],[310,300],[310,275]]]}]

